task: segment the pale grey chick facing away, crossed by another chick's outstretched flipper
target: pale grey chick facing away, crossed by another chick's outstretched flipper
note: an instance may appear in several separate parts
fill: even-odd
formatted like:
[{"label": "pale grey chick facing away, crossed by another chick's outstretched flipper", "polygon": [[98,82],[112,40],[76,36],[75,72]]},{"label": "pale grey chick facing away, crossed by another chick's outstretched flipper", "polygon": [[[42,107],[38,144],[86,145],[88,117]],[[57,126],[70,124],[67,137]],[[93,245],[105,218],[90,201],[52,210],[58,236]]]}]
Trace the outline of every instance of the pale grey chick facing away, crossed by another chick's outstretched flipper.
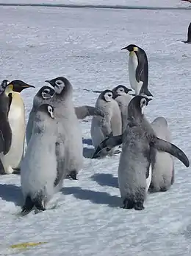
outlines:
[{"label": "pale grey chick facing away, crossed by another chick's outstretched flipper", "polygon": [[[157,117],[151,126],[156,136],[160,139],[171,141],[171,134],[168,129],[165,117]],[[174,161],[170,153],[156,151],[154,167],[152,168],[152,179],[149,191],[167,191],[174,182]]]}]

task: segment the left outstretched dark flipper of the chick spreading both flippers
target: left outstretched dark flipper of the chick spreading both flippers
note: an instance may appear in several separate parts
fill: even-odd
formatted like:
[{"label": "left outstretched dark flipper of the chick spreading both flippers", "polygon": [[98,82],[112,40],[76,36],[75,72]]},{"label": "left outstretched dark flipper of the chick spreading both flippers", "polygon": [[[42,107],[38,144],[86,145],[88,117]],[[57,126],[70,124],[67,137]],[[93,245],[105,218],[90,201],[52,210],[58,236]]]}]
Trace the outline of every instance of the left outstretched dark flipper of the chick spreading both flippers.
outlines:
[{"label": "left outstretched dark flipper of the chick spreading both flippers", "polygon": [[98,157],[98,153],[102,151],[104,148],[115,148],[116,146],[122,144],[122,138],[123,135],[118,136],[109,136],[107,139],[104,139],[103,142],[98,145],[98,148],[96,148],[95,153],[93,154],[93,159]]}]

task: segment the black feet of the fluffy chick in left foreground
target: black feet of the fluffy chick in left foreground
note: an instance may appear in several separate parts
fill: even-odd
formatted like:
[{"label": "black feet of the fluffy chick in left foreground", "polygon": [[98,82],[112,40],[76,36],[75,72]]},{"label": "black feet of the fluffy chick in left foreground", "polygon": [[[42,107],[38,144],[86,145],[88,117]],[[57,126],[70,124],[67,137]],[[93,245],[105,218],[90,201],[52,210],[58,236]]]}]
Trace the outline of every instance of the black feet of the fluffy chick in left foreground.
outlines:
[{"label": "black feet of the fluffy chick in left foreground", "polygon": [[21,213],[26,215],[32,211],[33,207],[36,207],[37,210],[40,210],[40,211],[46,210],[45,207],[43,207],[42,200],[40,199],[39,196],[37,196],[34,199],[32,199],[31,196],[26,196],[24,206],[22,207]]}]

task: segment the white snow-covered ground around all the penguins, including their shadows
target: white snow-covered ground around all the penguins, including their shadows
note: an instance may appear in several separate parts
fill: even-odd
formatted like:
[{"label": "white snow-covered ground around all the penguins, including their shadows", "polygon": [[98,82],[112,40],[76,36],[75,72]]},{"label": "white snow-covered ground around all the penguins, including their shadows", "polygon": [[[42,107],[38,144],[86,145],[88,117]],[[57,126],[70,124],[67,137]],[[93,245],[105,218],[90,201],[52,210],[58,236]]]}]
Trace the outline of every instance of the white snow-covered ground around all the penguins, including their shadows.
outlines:
[{"label": "white snow-covered ground around all the penguins, including their shadows", "polygon": [[[189,11],[1,7],[0,16],[0,80],[21,79],[36,87],[22,92],[26,120],[46,79],[67,77],[75,105],[95,105],[98,94],[84,89],[129,86],[128,55],[120,49],[137,44],[147,52],[154,94],[145,114],[149,120],[166,117],[173,143],[190,158],[191,46],[181,43],[187,39]],[[123,210],[119,156],[88,158],[93,153],[90,120],[81,122],[86,157],[79,181],[65,180],[54,196],[55,209],[18,216],[20,176],[1,176],[0,255],[190,255],[190,168],[176,159],[176,182],[169,191],[148,194],[141,212]],[[48,243],[10,249],[40,241]]]}]

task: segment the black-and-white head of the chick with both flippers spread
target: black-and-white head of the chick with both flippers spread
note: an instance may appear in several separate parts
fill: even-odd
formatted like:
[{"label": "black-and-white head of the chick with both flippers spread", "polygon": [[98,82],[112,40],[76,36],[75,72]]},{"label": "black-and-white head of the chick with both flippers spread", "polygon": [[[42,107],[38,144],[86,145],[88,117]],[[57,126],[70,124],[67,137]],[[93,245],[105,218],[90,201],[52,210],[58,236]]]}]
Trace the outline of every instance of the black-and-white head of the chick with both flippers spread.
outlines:
[{"label": "black-and-white head of the chick with both flippers spread", "polygon": [[151,101],[151,98],[137,95],[135,96],[128,105],[128,114],[129,116],[136,115],[137,114],[144,114],[144,109],[148,105],[149,101]]}]

